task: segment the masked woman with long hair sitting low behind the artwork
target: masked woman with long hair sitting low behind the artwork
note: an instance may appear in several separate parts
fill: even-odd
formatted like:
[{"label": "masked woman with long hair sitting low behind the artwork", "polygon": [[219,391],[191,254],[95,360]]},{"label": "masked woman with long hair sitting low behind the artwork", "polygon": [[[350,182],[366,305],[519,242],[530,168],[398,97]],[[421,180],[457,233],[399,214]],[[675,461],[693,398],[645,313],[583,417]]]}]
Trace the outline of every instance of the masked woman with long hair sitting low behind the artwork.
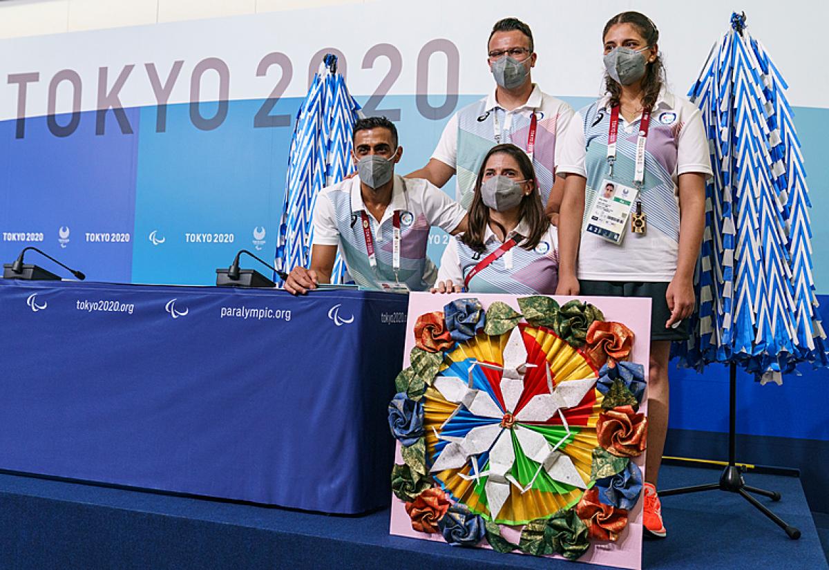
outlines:
[{"label": "masked woman with long hair sitting low behind the artwork", "polygon": [[478,171],[468,229],[446,246],[432,292],[552,295],[558,268],[555,226],[530,158],[513,144],[492,147]]}]

